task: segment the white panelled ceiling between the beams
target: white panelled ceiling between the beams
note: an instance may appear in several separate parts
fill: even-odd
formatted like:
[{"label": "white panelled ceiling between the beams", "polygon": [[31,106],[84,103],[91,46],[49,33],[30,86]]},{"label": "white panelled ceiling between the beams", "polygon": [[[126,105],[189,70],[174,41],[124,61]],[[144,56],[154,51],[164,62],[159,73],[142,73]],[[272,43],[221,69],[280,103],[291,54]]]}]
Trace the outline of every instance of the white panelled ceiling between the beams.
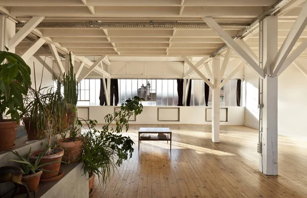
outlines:
[{"label": "white panelled ceiling between the beams", "polygon": [[[291,29],[304,0],[292,0],[279,10],[279,46]],[[19,21],[32,16],[46,16],[42,22],[64,21],[178,21],[203,22],[212,16],[218,23],[250,23],[276,0],[0,0]],[[225,29],[234,36],[242,28]],[[145,28],[37,28],[61,47],[75,55],[108,55],[110,61],[180,61],[178,56],[210,56],[224,42],[210,29]],[[307,38],[307,29],[297,45]],[[247,34],[248,45],[258,53],[257,30]],[[31,43],[24,40],[16,47],[24,52]],[[49,55],[41,48],[37,55]],[[123,57],[118,57],[118,56]],[[133,56],[133,57],[131,57]],[[143,56],[143,57],[142,57]],[[168,57],[161,57],[168,56]],[[233,54],[235,56],[235,54]],[[301,54],[307,57],[307,51]],[[130,60],[131,59],[131,60]]]}]

